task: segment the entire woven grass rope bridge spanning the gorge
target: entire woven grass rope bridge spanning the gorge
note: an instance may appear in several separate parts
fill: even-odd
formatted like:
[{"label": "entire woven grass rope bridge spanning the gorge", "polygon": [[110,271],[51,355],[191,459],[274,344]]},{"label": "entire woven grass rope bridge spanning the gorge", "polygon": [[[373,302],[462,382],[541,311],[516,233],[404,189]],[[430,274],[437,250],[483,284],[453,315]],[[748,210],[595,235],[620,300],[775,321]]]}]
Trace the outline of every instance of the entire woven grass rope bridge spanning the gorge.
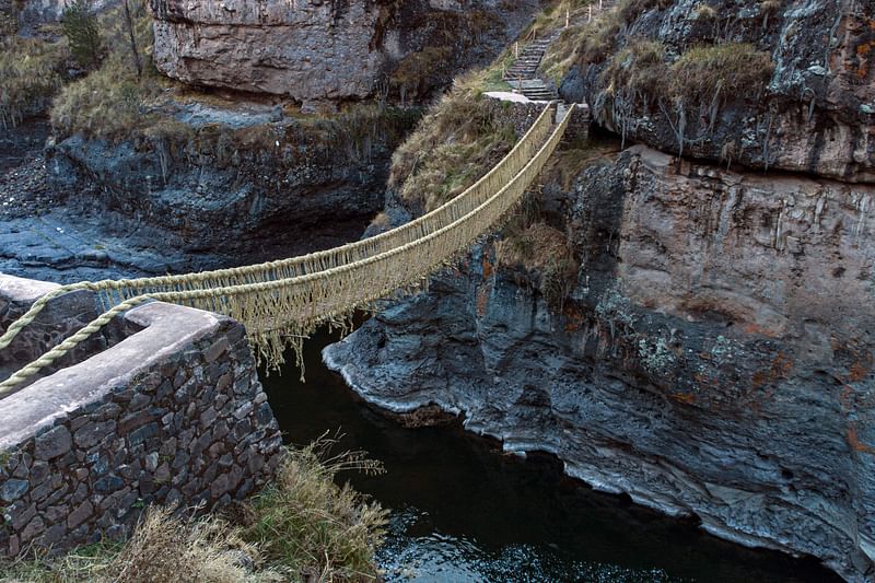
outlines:
[{"label": "entire woven grass rope bridge spanning the gorge", "polygon": [[104,313],[61,343],[0,383],[0,396],[50,365],[116,315],[155,300],[228,315],[246,326],[256,357],[268,368],[325,323],[340,324],[360,308],[399,289],[416,289],[465,252],[521,201],[556,150],[571,119],[558,124],[548,105],[511,152],[482,178],[445,205],[371,238],[310,255],[265,264],[154,278],[83,281],[37,300],[0,336],[0,350],[55,298],[95,292]]}]

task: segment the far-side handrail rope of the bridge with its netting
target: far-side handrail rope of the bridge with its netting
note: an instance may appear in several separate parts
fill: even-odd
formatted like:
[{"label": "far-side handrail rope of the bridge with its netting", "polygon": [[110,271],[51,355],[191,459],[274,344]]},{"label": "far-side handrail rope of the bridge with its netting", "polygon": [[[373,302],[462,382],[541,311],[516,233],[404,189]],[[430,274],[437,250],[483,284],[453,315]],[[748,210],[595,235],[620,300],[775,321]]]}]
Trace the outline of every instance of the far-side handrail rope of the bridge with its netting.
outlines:
[{"label": "far-side handrail rope of the bridge with its netting", "polygon": [[119,301],[149,293],[196,291],[206,288],[290,279],[365,259],[416,241],[430,232],[451,224],[459,217],[464,217],[489,198],[509,177],[515,175],[532,159],[538,144],[542,143],[549,133],[552,125],[550,113],[551,106],[545,107],[540,116],[523,138],[517,141],[511,152],[472,186],[433,211],[399,228],[332,249],[264,264],[177,276],[102,280],[96,282],[85,281],[62,285],[37,300],[24,315],[10,325],[0,336],[0,350],[9,347],[19,333],[36,319],[49,301],[72,291],[90,290],[97,292],[101,294],[104,306],[108,307]]}]

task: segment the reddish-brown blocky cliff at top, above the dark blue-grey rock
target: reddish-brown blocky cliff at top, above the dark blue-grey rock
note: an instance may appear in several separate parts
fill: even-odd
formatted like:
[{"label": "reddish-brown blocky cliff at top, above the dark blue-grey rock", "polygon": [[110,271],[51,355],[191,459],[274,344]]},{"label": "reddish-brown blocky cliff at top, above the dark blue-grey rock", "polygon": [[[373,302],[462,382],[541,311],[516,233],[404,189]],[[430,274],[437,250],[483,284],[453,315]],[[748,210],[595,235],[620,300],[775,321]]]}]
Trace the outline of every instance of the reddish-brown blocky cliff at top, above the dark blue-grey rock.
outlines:
[{"label": "reddish-brown blocky cliff at top, above the dark blue-grey rock", "polygon": [[[293,98],[428,93],[487,62],[537,0],[152,0],[154,59],[187,83]],[[394,85],[394,86],[393,86]]]}]

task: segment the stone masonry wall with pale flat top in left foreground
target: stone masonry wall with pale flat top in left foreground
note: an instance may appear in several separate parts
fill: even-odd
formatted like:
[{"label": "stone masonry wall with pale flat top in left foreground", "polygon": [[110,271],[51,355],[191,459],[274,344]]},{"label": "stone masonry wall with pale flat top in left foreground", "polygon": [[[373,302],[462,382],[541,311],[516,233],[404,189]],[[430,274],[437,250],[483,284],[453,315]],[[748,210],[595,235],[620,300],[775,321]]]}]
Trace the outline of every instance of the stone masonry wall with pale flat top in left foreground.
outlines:
[{"label": "stone masonry wall with pale flat top in left foreground", "polygon": [[158,302],[125,320],[140,331],[0,399],[0,557],[122,538],[150,504],[213,509],[280,464],[242,325]]}]

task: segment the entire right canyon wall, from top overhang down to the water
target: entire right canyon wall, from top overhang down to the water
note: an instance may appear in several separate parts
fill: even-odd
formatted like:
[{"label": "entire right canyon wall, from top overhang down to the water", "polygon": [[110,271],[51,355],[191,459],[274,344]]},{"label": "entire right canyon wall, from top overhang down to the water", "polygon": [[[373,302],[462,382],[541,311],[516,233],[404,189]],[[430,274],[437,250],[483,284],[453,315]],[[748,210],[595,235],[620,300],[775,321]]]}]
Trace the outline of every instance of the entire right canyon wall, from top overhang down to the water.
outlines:
[{"label": "entire right canyon wall, from top overhang down to the water", "polygon": [[639,144],[565,144],[523,236],[326,362],[380,407],[436,404],[595,488],[872,581],[871,5],[631,0],[583,26],[560,93]]}]

